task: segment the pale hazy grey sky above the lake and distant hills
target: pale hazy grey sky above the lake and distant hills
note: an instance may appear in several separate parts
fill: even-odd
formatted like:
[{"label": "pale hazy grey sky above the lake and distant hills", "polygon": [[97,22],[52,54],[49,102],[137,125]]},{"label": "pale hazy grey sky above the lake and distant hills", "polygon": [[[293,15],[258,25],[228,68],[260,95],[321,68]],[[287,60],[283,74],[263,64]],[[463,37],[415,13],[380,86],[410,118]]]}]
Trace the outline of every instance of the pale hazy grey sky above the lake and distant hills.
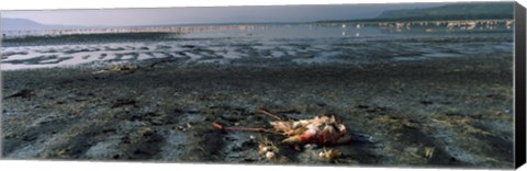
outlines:
[{"label": "pale hazy grey sky above the lake and distant hills", "polygon": [[29,19],[48,25],[130,26],[244,22],[309,22],[375,18],[385,10],[438,7],[445,3],[201,7],[154,9],[2,11],[2,18]]}]

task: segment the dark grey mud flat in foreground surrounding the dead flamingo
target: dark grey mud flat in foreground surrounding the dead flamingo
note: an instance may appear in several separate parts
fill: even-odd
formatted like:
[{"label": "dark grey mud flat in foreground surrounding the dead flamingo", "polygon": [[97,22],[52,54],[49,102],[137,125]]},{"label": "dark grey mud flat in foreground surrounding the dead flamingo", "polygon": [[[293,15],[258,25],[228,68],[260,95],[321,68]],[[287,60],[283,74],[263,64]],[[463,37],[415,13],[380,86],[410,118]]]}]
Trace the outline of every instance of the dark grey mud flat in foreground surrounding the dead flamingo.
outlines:
[{"label": "dark grey mud flat in foreground surrounding the dead flamingo", "polygon": [[[200,163],[513,167],[512,55],[391,64],[189,65],[150,60],[106,68],[2,73],[2,157]],[[375,142],[278,145],[280,135],[214,129],[268,127],[335,115]]]}]

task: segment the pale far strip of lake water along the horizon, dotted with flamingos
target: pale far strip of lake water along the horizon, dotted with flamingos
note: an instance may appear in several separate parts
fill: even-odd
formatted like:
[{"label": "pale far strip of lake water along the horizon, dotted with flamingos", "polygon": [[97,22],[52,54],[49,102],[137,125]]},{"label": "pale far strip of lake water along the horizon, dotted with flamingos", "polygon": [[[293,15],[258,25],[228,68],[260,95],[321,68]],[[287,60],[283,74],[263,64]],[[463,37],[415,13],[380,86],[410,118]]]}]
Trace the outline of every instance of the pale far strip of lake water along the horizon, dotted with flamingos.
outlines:
[{"label": "pale far strip of lake water along the horizon, dotted with flamingos", "polygon": [[[355,25],[355,26],[352,26]],[[101,33],[176,33],[193,36],[256,36],[256,37],[349,37],[375,36],[380,33],[456,33],[464,31],[506,31],[513,20],[412,21],[412,22],[321,22],[309,24],[232,24],[141,27],[93,27],[63,30],[3,31],[5,38],[23,36],[57,36]]]}]

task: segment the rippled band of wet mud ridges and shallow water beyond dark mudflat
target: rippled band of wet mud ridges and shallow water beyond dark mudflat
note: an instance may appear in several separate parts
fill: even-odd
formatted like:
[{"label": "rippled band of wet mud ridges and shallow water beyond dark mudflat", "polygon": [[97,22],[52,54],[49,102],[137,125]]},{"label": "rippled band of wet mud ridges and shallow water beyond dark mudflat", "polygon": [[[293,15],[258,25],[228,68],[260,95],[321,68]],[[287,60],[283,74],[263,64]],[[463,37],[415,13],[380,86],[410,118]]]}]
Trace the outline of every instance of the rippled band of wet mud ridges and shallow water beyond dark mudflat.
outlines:
[{"label": "rippled band of wet mud ridges and shallow water beyond dark mudflat", "polygon": [[[437,37],[172,37],[123,42],[9,41],[2,50],[2,70],[105,65],[148,59],[184,60],[187,64],[321,64],[349,65],[457,58],[513,50],[512,36],[447,35]],[[481,33],[480,33],[481,34]],[[133,35],[133,34],[131,34]],[[124,38],[131,35],[122,35]],[[85,35],[89,37],[89,35]],[[102,39],[102,38],[101,38]],[[396,39],[396,41],[394,41]],[[34,41],[34,42],[31,42]],[[36,44],[36,45],[35,45]]]}]

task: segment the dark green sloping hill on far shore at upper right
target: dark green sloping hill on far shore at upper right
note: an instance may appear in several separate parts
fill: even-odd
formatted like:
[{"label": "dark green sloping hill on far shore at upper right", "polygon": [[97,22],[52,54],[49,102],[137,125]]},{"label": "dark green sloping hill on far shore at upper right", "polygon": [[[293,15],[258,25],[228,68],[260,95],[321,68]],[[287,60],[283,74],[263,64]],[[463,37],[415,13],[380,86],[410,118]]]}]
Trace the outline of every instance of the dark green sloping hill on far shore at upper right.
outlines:
[{"label": "dark green sloping hill on far shore at upper right", "polygon": [[375,20],[514,19],[513,2],[474,2],[436,8],[384,11]]}]

